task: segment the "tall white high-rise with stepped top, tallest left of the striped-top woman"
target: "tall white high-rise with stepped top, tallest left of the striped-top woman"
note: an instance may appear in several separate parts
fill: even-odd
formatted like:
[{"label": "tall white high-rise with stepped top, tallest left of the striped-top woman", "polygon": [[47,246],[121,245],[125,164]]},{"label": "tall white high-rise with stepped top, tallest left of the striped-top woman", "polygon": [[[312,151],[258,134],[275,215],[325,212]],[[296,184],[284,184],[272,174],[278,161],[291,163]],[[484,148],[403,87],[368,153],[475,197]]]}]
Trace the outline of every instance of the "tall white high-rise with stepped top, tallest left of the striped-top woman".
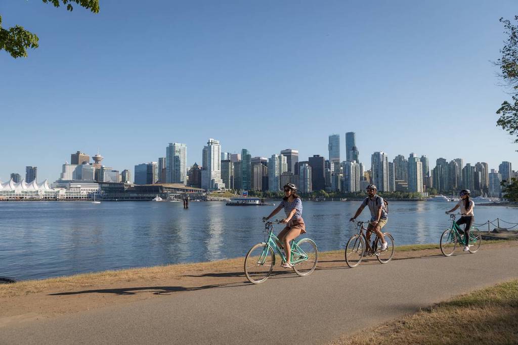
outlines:
[{"label": "tall white high-rise with stepped top, tallest left of the striped-top woman", "polygon": [[207,191],[225,188],[221,179],[221,145],[219,140],[209,138],[203,148],[202,188]]}]

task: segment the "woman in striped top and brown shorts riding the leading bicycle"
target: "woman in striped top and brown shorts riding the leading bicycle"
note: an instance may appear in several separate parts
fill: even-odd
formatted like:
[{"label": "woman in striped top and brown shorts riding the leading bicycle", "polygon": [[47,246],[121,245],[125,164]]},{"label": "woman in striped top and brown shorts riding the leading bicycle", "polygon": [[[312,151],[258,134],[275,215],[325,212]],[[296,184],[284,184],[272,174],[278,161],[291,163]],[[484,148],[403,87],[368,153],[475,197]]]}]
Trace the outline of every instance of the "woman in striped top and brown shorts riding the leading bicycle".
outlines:
[{"label": "woman in striped top and brown shorts riding the leading bicycle", "polygon": [[284,213],[286,214],[286,218],[282,220],[282,222],[286,224],[286,227],[282,229],[277,238],[279,238],[286,253],[287,261],[282,263],[282,267],[289,268],[293,267],[290,262],[290,241],[295,239],[298,235],[306,233],[306,224],[304,224],[304,219],[302,219],[302,200],[297,195],[297,186],[293,183],[284,186],[284,198],[268,217],[263,217],[263,221],[267,221],[275,216],[281,211],[281,208],[284,208]]}]

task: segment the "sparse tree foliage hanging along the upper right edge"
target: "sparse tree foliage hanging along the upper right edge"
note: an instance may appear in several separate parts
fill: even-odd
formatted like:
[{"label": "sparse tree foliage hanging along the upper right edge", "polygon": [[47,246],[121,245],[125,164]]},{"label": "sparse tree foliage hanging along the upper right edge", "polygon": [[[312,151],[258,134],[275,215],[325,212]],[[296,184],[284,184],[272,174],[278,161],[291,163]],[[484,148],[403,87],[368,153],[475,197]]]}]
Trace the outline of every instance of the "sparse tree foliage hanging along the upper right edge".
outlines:
[{"label": "sparse tree foliage hanging along the upper right edge", "polygon": [[[514,20],[518,21],[518,16],[515,16]],[[500,78],[512,90],[512,101],[504,101],[497,110],[500,118],[496,124],[512,136],[516,136],[514,142],[518,143],[518,25],[503,18],[500,18],[500,22],[503,23],[505,33],[509,37],[500,49],[502,56],[496,65],[500,68]]]}]

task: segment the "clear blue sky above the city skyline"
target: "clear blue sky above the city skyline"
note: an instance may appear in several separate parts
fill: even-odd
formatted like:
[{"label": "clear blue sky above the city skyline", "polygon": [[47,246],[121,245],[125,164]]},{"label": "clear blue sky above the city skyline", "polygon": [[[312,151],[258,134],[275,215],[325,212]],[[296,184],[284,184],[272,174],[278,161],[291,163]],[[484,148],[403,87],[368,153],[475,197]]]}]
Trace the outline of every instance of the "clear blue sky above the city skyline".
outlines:
[{"label": "clear blue sky above the city skyline", "polygon": [[[124,4],[124,5],[122,5]],[[384,151],[502,160],[518,145],[496,127],[515,1],[100,2],[92,14],[39,0],[0,4],[3,26],[40,38],[27,58],[0,51],[0,178],[59,177],[82,151],[115,169],[157,161],[169,142],[200,162],[222,151],[284,148],[327,157],[329,134],[356,132],[359,158]]]}]

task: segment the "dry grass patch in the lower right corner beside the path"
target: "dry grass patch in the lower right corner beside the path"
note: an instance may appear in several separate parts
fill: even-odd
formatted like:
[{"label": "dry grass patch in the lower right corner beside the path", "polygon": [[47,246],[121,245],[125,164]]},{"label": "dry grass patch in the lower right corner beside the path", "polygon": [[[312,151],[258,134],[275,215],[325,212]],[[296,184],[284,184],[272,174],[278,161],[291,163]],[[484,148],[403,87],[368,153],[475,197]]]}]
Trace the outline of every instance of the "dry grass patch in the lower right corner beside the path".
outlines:
[{"label": "dry grass patch in the lower right corner beside the path", "polygon": [[518,344],[518,280],[441,302],[332,344]]}]

